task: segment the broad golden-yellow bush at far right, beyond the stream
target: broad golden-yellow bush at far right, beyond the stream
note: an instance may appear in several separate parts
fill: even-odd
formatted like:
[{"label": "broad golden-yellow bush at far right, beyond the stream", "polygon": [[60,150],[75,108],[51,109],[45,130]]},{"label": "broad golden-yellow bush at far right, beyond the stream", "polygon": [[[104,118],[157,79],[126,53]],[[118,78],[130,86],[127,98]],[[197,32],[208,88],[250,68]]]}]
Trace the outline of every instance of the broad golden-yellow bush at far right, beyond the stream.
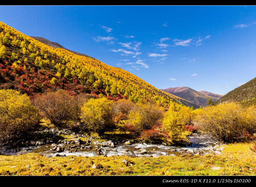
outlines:
[{"label": "broad golden-yellow bush at far right, beyond the stream", "polygon": [[256,132],[255,114],[255,107],[226,102],[201,109],[195,124],[221,142],[239,142]]}]

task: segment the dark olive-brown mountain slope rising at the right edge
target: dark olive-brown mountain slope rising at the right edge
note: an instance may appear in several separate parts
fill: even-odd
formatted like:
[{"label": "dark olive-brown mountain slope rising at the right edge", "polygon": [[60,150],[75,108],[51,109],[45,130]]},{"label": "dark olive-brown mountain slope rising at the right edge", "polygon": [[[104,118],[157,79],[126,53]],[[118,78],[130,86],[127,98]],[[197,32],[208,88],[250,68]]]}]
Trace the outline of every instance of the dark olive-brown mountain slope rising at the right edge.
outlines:
[{"label": "dark olive-brown mountain slope rising at the right edge", "polygon": [[217,103],[225,101],[241,102],[244,106],[256,105],[256,78],[228,92]]}]

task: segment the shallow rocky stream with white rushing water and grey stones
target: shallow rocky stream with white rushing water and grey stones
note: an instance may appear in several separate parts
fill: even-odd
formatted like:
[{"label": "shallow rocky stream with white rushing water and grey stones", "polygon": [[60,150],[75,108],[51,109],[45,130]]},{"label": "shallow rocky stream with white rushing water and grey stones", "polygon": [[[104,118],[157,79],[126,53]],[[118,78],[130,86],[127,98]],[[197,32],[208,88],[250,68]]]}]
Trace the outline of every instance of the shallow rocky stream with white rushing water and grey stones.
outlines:
[{"label": "shallow rocky stream with white rushing water and grey stones", "polygon": [[[36,142],[36,146],[27,146],[20,150],[5,149],[0,150],[2,155],[27,154],[30,152],[41,153],[45,157],[54,156],[112,156],[126,155],[129,157],[158,157],[158,156],[180,156],[184,154],[204,155],[221,154],[224,146],[213,141],[207,135],[192,134],[188,136],[190,143],[183,146],[167,146],[163,144],[149,144],[142,142],[115,142],[112,140],[106,142],[94,141],[92,138],[82,141],[78,137],[73,140],[59,140],[58,143],[47,144],[45,142]],[[48,142],[49,143],[49,142]]]}]

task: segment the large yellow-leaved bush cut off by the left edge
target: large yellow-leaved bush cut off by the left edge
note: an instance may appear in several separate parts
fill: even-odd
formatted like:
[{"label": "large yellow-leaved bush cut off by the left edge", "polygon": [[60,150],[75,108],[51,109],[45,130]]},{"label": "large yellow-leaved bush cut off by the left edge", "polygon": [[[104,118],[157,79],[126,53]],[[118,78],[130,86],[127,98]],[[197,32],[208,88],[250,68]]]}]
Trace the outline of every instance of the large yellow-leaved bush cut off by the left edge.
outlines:
[{"label": "large yellow-leaved bush cut off by the left edge", "polygon": [[0,143],[6,143],[27,135],[40,115],[26,94],[0,90],[0,119]]}]

